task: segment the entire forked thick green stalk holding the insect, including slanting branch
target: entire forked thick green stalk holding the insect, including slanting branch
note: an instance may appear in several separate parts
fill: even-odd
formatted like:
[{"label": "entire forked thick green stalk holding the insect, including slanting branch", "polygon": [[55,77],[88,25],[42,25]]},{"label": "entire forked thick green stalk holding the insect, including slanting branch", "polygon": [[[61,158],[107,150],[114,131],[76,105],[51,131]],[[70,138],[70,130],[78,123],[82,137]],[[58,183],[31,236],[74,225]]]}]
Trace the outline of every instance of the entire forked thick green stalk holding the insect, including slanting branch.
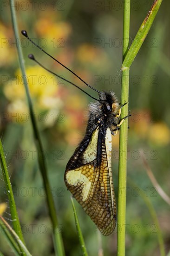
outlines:
[{"label": "entire forked thick green stalk holding the insect, including slanting branch", "polygon": [[[129,24],[130,24],[130,0],[124,0],[124,28],[123,28],[123,64],[122,64],[122,87],[121,103],[128,102],[129,97],[129,69],[134,61],[150,27],[155,19],[162,0],[154,0],[149,13],[145,17],[139,28],[135,39],[128,51]],[[123,108],[121,118],[128,114],[128,104]],[[125,255],[125,213],[126,213],[126,162],[127,162],[127,129],[128,123],[125,121],[120,127],[119,146],[119,176],[118,176],[118,255]]]}]

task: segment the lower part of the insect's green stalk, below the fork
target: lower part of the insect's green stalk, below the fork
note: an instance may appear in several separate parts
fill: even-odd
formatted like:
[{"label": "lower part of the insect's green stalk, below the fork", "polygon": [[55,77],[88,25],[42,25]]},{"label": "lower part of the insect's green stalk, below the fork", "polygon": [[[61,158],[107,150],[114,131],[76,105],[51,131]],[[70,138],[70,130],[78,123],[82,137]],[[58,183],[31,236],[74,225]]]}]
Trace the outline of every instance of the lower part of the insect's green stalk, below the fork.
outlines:
[{"label": "lower part of the insect's green stalk, below the fork", "polygon": [[[122,72],[121,102],[128,102],[129,96],[129,68]],[[128,113],[128,103],[124,106],[124,113]],[[121,115],[121,118],[123,118]],[[125,116],[125,115],[124,115]],[[118,255],[125,255],[125,223],[126,223],[126,173],[127,173],[127,135],[128,122],[123,122],[119,139],[119,170],[118,170]]]}]

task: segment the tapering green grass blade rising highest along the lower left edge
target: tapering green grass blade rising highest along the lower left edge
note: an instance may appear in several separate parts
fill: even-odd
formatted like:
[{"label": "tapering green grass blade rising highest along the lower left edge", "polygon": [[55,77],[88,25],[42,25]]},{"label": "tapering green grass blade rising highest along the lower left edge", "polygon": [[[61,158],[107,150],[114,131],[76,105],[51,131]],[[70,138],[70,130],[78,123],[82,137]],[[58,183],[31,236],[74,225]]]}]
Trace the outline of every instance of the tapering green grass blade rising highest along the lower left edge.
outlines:
[{"label": "tapering green grass blade rising highest along the lower left edge", "polygon": [[13,222],[13,229],[15,230],[17,235],[20,237],[20,240],[23,243],[25,243],[22,235],[22,231],[21,231],[20,221],[19,221],[19,217],[18,217],[16,205],[15,205],[13,190],[12,190],[12,186],[11,186],[11,182],[10,182],[10,178],[7,170],[7,163],[5,160],[5,155],[4,155],[1,140],[0,140],[0,165],[2,168],[2,174],[3,174],[4,182],[6,185],[8,199],[9,199],[9,207],[10,207],[10,213],[11,213],[11,218]]}]

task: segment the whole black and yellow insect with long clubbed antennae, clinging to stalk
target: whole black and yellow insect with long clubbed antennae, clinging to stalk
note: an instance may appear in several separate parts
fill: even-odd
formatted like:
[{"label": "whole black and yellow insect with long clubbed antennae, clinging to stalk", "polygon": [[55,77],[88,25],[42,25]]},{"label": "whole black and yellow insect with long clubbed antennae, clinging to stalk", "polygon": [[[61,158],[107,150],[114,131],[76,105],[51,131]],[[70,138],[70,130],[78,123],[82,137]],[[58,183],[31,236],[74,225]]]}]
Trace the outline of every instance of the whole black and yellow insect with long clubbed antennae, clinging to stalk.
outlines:
[{"label": "whole black and yellow insect with long clubbed antennae, clinging to stalk", "polygon": [[[22,30],[21,33],[46,53],[28,37],[25,30]],[[65,67],[50,54],[47,55]],[[76,84],[44,67],[35,60],[33,54],[29,54],[29,58],[96,100],[89,105],[89,119],[85,137],[66,165],[65,184],[101,233],[108,236],[115,229],[117,218],[111,170],[112,135],[117,135],[120,125],[130,116],[129,114],[120,119],[121,109],[126,102],[123,105],[118,104],[118,99],[113,92],[99,92],[68,67],[65,67],[87,86],[98,92],[99,99],[96,99]]]}]

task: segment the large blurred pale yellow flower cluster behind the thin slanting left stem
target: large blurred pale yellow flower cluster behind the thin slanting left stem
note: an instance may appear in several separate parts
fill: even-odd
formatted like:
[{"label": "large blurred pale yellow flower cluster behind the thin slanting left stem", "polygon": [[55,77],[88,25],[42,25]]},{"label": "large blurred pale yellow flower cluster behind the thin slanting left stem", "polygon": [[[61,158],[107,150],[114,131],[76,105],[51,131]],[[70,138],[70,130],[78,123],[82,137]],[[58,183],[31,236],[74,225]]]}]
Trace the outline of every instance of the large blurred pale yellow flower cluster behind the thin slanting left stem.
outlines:
[{"label": "large blurred pale yellow flower cluster behind the thin slanting left stem", "polygon": [[[13,117],[16,116],[17,121],[24,122],[24,115],[28,116],[26,92],[20,70],[17,70],[15,75],[16,77],[4,86],[4,94],[10,101],[7,111],[12,121],[15,121]],[[58,86],[54,76],[41,67],[34,66],[26,69],[26,80],[35,112],[45,112],[48,121],[44,122],[43,126],[51,126],[54,123],[52,113],[59,113],[62,106],[62,101],[57,97]]]}]

